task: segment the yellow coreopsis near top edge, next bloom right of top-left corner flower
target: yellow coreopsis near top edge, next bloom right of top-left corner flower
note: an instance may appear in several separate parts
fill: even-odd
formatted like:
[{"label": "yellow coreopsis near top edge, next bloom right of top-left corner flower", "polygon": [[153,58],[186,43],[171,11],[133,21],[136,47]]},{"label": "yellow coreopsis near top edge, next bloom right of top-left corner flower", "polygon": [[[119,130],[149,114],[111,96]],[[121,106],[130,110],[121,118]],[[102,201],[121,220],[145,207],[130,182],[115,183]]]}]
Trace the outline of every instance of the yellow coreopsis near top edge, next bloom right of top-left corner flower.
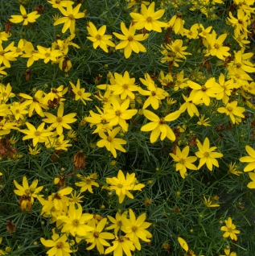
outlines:
[{"label": "yellow coreopsis near top edge, next bloom right of top-left corner flower", "polygon": [[57,19],[56,22],[53,24],[54,26],[64,23],[64,27],[62,28],[62,33],[65,31],[70,30],[71,34],[75,33],[75,27],[76,27],[76,19],[81,19],[84,17],[83,12],[79,12],[81,3],[76,5],[72,9],[72,3],[68,1],[67,3],[67,10],[64,10],[62,6],[59,6],[59,10],[65,17],[61,17],[60,19]]}]

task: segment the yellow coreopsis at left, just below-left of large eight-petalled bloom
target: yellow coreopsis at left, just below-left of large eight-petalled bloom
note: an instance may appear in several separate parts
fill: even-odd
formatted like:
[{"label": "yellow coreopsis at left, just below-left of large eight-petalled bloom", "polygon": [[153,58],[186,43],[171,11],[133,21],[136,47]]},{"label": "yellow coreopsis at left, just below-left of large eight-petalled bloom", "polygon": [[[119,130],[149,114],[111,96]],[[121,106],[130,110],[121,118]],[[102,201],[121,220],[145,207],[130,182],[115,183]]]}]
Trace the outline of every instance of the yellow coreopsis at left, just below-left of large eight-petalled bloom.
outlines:
[{"label": "yellow coreopsis at left, just below-left of large eight-petalled bloom", "polygon": [[19,130],[23,134],[27,134],[23,137],[23,140],[26,139],[33,139],[33,147],[37,145],[38,142],[45,142],[47,140],[48,136],[51,136],[53,134],[50,131],[44,130],[45,122],[42,122],[38,128],[36,129],[35,126],[31,125],[31,123],[26,122],[26,126],[28,130]]}]

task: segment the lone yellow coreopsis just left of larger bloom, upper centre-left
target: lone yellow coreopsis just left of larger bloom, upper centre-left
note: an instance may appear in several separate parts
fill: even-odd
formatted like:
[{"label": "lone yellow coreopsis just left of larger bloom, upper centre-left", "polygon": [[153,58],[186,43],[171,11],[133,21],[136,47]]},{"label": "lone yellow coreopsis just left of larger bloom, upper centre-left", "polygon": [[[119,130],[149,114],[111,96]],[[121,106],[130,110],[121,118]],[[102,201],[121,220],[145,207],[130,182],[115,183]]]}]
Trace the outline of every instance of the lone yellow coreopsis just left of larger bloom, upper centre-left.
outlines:
[{"label": "lone yellow coreopsis just left of larger bloom, upper centre-left", "polygon": [[112,35],[105,35],[106,26],[103,25],[97,30],[97,27],[91,22],[88,23],[87,30],[88,34],[91,36],[87,36],[87,39],[93,42],[94,49],[97,49],[97,47],[101,47],[101,49],[105,52],[108,51],[108,45],[111,47],[115,47],[115,44],[110,41],[110,39],[113,38]]}]

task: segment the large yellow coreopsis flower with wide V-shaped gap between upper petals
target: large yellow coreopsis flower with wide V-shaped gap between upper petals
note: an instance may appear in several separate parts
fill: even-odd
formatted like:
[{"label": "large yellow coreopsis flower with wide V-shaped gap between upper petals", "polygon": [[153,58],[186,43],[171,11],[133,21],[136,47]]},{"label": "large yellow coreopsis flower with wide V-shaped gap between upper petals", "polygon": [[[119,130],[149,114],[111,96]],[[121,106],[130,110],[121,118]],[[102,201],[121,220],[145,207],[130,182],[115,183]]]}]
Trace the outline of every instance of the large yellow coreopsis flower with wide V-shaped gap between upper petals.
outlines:
[{"label": "large yellow coreopsis flower with wide V-shaped gap between upper petals", "polygon": [[150,110],[144,109],[143,114],[152,122],[147,123],[145,126],[141,127],[142,131],[150,131],[150,142],[154,143],[157,141],[159,135],[160,139],[163,140],[166,137],[171,141],[175,141],[175,134],[171,127],[167,125],[167,122],[171,122],[179,118],[181,112],[179,110],[168,114],[165,118],[159,118],[156,114]]}]

